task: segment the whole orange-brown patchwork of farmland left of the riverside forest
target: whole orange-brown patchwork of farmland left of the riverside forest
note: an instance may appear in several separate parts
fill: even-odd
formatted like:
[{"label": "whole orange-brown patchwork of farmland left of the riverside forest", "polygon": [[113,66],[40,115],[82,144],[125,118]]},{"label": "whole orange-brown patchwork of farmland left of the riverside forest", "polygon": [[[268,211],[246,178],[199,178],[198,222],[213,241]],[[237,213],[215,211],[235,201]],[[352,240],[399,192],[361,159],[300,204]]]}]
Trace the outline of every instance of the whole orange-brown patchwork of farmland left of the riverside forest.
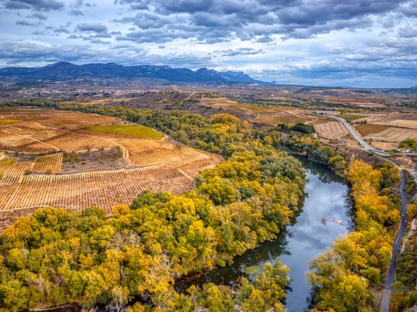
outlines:
[{"label": "whole orange-brown patchwork of farmland left of the riverside forest", "polygon": [[0,110],[0,230],[45,206],[109,213],[147,189],[179,195],[222,161],[108,116],[7,108]]}]

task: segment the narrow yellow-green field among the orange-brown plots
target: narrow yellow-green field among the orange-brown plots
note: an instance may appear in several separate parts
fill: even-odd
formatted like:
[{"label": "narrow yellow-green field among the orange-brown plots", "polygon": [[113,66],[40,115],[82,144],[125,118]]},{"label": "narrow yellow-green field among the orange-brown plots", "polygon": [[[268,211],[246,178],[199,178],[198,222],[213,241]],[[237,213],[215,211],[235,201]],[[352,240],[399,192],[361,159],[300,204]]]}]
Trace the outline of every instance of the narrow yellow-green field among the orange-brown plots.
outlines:
[{"label": "narrow yellow-green field among the orange-brown plots", "polygon": [[79,132],[89,135],[106,134],[123,139],[154,139],[160,140],[164,137],[159,132],[144,125],[94,125]]}]

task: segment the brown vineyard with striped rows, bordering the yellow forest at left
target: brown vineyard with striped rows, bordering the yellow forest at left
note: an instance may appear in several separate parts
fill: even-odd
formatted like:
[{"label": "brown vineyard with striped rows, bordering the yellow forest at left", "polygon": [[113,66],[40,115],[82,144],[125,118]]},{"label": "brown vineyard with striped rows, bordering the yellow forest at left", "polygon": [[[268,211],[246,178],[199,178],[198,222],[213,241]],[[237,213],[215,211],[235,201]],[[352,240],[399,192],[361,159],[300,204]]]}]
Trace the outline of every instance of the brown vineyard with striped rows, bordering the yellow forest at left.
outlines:
[{"label": "brown vineyard with striped rows, bordering the yellow forest at left", "polygon": [[[179,195],[193,188],[188,177],[163,164],[72,175],[22,175],[33,163],[15,164],[0,180],[0,210],[45,206],[80,210],[98,206],[109,213],[115,205],[129,205],[147,189]],[[13,168],[16,166],[19,168]],[[10,171],[15,174],[8,174]]]}]

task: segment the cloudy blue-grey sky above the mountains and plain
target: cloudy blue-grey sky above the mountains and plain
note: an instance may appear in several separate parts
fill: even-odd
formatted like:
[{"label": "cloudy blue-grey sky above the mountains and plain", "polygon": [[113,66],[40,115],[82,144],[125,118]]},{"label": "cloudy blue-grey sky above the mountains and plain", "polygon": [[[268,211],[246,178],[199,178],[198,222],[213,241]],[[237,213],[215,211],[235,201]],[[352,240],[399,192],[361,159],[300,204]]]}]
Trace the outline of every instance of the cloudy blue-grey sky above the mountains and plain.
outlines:
[{"label": "cloudy blue-grey sky above the mountains and plain", "polygon": [[417,0],[0,0],[0,68],[60,61],[413,87]]}]

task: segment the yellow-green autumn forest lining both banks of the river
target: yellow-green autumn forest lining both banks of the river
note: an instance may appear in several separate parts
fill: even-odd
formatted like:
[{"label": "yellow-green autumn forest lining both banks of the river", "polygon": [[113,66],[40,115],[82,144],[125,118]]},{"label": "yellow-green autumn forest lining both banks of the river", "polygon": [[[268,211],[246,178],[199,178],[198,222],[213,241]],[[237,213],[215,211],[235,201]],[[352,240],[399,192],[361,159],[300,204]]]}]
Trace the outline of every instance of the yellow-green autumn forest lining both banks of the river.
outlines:
[{"label": "yellow-green autumn forest lining both banks of the river", "polygon": [[[24,105],[25,103],[18,103]],[[27,104],[27,103],[26,103]],[[307,273],[316,311],[373,311],[391,259],[389,227],[400,220],[400,181],[391,164],[373,168],[320,143],[297,125],[270,130],[219,114],[205,119],[180,110],[31,103],[116,116],[151,126],[181,143],[219,153],[226,161],[202,171],[181,196],[139,194],[111,217],[92,207],[78,214],[47,208],[0,236],[0,311],[96,303],[124,311],[283,311],[288,268],[265,266],[237,288],[206,284],[174,291],[176,279],[215,266],[272,240],[288,225],[303,194],[306,155],[352,183],[356,230],[311,261]],[[13,103],[16,105],[16,103]]]}]

